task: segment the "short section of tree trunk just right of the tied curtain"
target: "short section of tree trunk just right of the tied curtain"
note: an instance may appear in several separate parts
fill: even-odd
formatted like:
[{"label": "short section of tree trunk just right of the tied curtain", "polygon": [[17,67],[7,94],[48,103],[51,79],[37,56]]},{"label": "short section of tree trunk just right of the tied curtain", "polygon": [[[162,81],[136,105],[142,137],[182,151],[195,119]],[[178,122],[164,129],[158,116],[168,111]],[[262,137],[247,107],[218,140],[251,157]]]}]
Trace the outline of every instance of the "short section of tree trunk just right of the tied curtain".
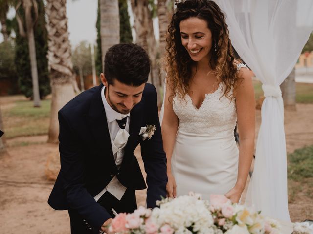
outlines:
[{"label": "short section of tree trunk just right of the tied curtain", "polygon": [[289,76],[280,85],[282,90],[282,96],[284,100],[284,107],[288,110],[296,110],[296,99],[295,99],[295,71],[292,69]]}]

